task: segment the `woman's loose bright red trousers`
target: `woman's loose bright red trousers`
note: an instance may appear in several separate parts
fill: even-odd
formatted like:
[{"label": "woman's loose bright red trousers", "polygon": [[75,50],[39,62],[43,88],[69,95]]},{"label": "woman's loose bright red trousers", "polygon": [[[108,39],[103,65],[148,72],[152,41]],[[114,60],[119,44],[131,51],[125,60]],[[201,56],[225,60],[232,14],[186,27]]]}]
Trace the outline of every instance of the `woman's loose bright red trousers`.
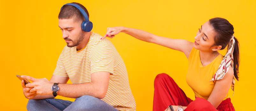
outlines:
[{"label": "woman's loose bright red trousers", "polygon": [[167,74],[159,74],[154,81],[153,111],[164,111],[169,105],[187,106],[185,111],[235,111],[230,98],[216,108],[206,99],[196,97],[193,101]]}]

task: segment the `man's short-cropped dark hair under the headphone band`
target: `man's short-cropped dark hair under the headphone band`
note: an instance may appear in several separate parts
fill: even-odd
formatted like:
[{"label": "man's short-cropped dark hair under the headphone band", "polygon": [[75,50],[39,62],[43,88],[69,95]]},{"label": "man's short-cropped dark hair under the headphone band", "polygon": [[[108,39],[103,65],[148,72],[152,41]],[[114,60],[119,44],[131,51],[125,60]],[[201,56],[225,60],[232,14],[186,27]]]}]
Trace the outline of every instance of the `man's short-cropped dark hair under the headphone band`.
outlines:
[{"label": "man's short-cropped dark hair under the headphone band", "polygon": [[[86,14],[89,18],[88,10],[82,4],[76,3],[76,2],[73,2],[73,3],[79,5],[86,12]],[[58,16],[59,19],[69,19],[72,17],[75,17],[76,20],[85,20],[82,13],[77,8],[75,8],[74,6],[71,6],[71,5],[65,5],[60,10],[60,13]]]}]

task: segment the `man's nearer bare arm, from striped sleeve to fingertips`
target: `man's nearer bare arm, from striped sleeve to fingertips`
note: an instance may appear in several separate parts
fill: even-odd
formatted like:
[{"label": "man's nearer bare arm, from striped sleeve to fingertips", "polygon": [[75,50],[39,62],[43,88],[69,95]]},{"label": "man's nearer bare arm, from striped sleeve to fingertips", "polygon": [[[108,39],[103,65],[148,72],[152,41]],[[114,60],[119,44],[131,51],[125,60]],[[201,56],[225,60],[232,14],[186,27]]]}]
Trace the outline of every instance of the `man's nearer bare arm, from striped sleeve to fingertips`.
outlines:
[{"label": "man's nearer bare arm, from striped sleeve to fingertips", "polygon": [[[51,87],[53,86],[53,82],[55,83],[56,81],[50,82],[46,78],[36,79],[25,75],[24,78],[33,81],[32,83],[28,83],[24,86],[31,88],[29,90],[30,93],[36,92],[36,96],[34,96],[33,99],[53,98],[53,91],[51,90]],[[80,84],[65,84],[64,82],[56,82],[59,83],[57,95],[69,98],[78,98],[83,95],[90,95],[102,99],[107,93],[109,78],[109,72],[96,72],[91,74],[91,82]]]}]

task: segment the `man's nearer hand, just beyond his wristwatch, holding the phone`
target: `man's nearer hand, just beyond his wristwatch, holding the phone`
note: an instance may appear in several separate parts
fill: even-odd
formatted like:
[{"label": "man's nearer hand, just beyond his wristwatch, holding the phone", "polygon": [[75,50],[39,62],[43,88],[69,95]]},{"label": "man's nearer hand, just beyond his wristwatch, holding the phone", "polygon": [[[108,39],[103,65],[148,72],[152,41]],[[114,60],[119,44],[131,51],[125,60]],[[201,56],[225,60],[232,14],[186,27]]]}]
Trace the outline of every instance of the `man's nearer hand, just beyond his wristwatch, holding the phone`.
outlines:
[{"label": "man's nearer hand, just beyond his wristwatch, holding the phone", "polygon": [[28,80],[32,81],[32,83],[28,83],[25,85],[27,88],[31,88],[29,90],[30,93],[36,92],[37,95],[52,94],[51,87],[53,86],[53,83],[51,83],[46,78],[36,79],[36,78],[26,76],[26,75],[21,75],[21,78],[28,79]]}]

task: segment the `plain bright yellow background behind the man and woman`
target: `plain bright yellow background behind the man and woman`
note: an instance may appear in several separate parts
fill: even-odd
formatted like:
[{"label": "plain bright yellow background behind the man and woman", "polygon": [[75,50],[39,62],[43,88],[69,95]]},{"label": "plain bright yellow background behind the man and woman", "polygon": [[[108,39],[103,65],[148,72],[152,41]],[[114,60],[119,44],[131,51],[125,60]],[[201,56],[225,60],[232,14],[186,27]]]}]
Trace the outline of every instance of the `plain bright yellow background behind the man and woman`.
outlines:
[{"label": "plain bright yellow background behind the man and woman", "polygon": [[[0,2],[1,110],[26,110],[28,101],[15,75],[50,79],[66,45],[58,27],[60,7],[70,0]],[[194,42],[200,26],[213,17],[229,20],[240,42],[240,81],[231,101],[236,110],[255,110],[255,0],[80,0],[89,11],[93,31],[104,35],[107,27],[126,26],[159,36]],[[111,39],[122,56],[138,111],[153,106],[153,82],[159,73],[172,76],[194,99],[185,81],[187,59],[181,52],[139,41],[126,34]],[[70,98],[57,97],[74,100]]]}]

